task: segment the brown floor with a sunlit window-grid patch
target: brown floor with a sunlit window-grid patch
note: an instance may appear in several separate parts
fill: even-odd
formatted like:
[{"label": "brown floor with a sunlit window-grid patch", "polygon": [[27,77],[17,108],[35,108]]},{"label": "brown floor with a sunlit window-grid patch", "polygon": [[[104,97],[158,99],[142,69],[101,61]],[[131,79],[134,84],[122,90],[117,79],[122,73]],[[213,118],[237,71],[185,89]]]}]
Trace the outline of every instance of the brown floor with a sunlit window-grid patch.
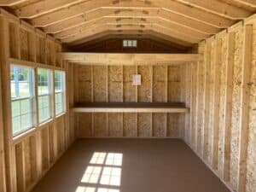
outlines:
[{"label": "brown floor with a sunlit window-grid patch", "polygon": [[[91,160],[94,154],[102,159]],[[112,169],[109,173],[109,167],[117,172]],[[32,191],[229,192],[229,189],[181,140],[111,138],[74,143]]]}]

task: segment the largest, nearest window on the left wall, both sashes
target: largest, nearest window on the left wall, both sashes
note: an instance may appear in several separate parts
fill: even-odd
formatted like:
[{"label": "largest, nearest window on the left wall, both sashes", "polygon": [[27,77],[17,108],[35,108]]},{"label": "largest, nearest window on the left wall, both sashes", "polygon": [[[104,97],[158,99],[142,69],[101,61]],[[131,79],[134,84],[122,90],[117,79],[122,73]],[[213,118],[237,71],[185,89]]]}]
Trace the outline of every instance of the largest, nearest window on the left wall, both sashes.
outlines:
[{"label": "largest, nearest window on the left wall, both sashes", "polygon": [[13,135],[33,126],[33,70],[12,65],[10,68]]}]

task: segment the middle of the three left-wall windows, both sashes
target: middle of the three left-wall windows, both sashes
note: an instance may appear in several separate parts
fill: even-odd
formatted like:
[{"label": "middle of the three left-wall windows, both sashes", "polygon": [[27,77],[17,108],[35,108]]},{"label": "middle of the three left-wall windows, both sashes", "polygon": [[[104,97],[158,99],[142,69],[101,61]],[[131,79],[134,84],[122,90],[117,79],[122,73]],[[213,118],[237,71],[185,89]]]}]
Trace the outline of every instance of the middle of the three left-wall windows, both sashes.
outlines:
[{"label": "middle of the three left-wall windows, both sashes", "polygon": [[43,123],[51,118],[50,115],[50,70],[38,68],[38,121]]}]

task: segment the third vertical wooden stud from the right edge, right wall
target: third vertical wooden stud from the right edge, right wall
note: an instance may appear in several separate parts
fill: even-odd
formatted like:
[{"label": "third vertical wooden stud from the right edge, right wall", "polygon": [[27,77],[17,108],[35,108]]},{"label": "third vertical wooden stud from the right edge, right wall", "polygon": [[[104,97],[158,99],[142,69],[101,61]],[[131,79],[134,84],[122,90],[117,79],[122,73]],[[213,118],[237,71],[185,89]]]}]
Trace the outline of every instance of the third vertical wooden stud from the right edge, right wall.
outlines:
[{"label": "third vertical wooden stud from the right edge, right wall", "polygon": [[212,120],[212,167],[218,168],[218,122],[219,122],[219,94],[220,94],[220,65],[221,39],[216,38],[214,55],[214,90],[213,90],[213,120]]}]

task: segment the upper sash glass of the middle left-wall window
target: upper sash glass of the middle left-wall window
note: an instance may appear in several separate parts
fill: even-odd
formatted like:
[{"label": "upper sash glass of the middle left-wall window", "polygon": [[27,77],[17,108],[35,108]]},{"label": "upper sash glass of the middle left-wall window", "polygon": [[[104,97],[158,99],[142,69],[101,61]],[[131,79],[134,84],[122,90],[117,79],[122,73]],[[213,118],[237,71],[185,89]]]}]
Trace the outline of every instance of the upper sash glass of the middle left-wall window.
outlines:
[{"label": "upper sash glass of the middle left-wall window", "polygon": [[38,68],[38,96],[49,94],[50,71],[49,69]]}]

